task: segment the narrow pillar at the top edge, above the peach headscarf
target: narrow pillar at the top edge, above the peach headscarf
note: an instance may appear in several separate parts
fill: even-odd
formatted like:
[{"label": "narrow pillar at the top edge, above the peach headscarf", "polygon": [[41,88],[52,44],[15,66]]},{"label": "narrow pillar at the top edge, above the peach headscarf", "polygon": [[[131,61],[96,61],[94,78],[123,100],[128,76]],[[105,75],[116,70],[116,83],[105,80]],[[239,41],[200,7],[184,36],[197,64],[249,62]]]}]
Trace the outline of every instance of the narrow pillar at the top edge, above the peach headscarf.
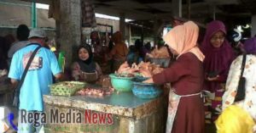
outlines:
[{"label": "narrow pillar at the top edge, above the peach headscarf", "polygon": [[172,16],[182,18],[183,17],[182,9],[183,9],[182,0],[172,0]]}]

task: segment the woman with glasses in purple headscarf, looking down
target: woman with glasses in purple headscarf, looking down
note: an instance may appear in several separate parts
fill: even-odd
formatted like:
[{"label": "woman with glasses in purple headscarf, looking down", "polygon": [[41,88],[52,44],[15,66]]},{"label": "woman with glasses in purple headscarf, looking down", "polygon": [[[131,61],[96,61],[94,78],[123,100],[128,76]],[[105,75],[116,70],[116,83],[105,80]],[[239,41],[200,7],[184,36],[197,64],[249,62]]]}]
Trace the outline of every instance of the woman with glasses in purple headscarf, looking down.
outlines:
[{"label": "woman with glasses in purple headscarf, looking down", "polygon": [[224,83],[227,79],[230,64],[235,58],[235,54],[226,39],[226,29],[223,22],[214,20],[207,25],[207,32],[201,45],[201,50],[205,54],[204,61],[205,82],[204,90],[211,94],[207,103],[211,105],[212,117],[214,121],[221,111],[221,97],[224,94]]}]

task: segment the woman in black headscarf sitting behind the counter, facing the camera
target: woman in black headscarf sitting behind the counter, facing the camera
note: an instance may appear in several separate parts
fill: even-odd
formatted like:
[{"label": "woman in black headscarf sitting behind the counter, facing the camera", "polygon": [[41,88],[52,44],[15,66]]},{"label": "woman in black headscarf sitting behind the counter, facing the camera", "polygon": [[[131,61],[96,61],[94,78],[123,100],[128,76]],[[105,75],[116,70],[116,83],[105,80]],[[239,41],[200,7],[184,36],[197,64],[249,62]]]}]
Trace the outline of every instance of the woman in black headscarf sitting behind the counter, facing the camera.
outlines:
[{"label": "woman in black headscarf sitting behind the counter, facing the camera", "polygon": [[95,82],[100,80],[102,69],[93,60],[91,47],[88,44],[80,45],[77,51],[78,60],[72,64],[73,80]]}]

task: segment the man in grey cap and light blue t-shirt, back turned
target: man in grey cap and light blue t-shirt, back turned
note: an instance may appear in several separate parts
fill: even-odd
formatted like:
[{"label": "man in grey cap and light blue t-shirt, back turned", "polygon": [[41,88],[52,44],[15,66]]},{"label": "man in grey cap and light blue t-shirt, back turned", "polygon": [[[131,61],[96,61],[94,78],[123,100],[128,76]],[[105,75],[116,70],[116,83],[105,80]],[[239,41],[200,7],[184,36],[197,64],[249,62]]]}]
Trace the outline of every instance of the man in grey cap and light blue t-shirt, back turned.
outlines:
[{"label": "man in grey cap and light blue t-shirt, back turned", "polygon": [[[28,123],[28,114],[44,111],[43,95],[49,94],[49,85],[53,83],[52,74],[57,80],[61,78],[61,69],[55,54],[44,47],[45,37],[44,30],[32,29],[28,36],[31,43],[17,51],[12,58],[9,78],[17,85],[33,51],[42,46],[33,58],[20,88],[19,133],[32,133],[32,130],[44,132],[43,125]],[[26,117],[23,117],[25,113]]]}]

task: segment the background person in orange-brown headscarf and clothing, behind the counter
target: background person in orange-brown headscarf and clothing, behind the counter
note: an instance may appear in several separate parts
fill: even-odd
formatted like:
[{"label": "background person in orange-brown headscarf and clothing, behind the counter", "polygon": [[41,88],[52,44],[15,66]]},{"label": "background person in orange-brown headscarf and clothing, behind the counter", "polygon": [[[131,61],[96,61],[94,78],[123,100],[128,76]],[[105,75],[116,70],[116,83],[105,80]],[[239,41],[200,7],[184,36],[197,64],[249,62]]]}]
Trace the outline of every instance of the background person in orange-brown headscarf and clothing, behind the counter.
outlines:
[{"label": "background person in orange-brown headscarf and clothing, behind the counter", "polygon": [[119,69],[119,66],[126,60],[128,54],[128,48],[123,42],[122,33],[117,31],[113,34],[114,47],[110,52],[110,57],[113,58],[113,70]]}]

